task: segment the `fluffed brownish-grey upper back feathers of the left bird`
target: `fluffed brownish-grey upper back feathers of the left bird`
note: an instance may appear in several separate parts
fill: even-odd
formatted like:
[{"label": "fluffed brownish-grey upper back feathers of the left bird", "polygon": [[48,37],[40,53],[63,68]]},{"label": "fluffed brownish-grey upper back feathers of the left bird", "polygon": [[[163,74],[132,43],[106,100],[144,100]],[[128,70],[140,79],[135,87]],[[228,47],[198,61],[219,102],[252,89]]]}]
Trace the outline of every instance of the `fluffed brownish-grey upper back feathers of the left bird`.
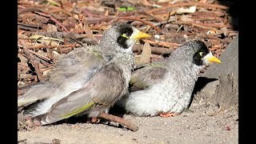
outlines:
[{"label": "fluffed brownish-grey upper back feathers of the left bird", "polygon": [[94,67],[102,65],[104,58],[98,46],[76,48],[59,59],[50,73],[49,81],[58,85],[59,79],[71,78],[81,71],[85,74]]}]

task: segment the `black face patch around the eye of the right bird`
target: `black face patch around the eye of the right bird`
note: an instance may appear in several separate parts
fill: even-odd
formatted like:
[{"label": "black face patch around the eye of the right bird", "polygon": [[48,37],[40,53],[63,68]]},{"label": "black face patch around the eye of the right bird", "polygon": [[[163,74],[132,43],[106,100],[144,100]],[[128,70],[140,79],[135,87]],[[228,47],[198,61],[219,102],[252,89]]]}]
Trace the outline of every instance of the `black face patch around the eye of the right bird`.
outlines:
[{"label": "black face patch around the eye of the right bird", "polygon": [[193,42],[193,45],[195,47],[198,47],[197,52],[193,56],[193,63],[198,66],[202,66],[202,64],[203,64],[202,58],[204,58],[206,56],[206,54],[209,54],[210,50],[207,48],[207,46],[204,42],[199,41],[199,40],[195,40]]}]

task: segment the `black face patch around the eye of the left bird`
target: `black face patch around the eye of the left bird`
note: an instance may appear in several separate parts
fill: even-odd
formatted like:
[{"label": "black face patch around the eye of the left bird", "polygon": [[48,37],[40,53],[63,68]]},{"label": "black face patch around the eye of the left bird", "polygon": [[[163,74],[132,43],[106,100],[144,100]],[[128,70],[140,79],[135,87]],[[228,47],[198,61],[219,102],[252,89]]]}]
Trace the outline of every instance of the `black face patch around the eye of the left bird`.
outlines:
[{"label": "black face patch around the eye of the left bird", "polygon": [[126,40],[130,38],[130,35],[133,34],[133,29],[130,25],[126,23],[120,23],[117,27],[118,30],[118,44],[122,46],[124,49],[127,49],[127,43]]}]

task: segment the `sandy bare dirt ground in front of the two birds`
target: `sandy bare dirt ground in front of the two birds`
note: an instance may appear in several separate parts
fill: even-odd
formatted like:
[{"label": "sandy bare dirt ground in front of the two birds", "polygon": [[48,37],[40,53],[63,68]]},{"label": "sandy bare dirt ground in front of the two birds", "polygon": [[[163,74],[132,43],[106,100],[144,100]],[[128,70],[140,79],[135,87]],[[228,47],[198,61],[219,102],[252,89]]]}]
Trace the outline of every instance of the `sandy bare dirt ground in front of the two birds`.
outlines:
[{"label": "sandy bare dirt ground in front of the two birds", "polygon": [[[133,132],[117,123],[59,124],[18,131],[18,143],[238,143],[238,110],[219,110],[206,102],[193,102],[190,109],[172,118],[124,118],[139,126]],[[23,141],[22,141],[23,140]],[[19,142],[21,141],[21,142]]]}]

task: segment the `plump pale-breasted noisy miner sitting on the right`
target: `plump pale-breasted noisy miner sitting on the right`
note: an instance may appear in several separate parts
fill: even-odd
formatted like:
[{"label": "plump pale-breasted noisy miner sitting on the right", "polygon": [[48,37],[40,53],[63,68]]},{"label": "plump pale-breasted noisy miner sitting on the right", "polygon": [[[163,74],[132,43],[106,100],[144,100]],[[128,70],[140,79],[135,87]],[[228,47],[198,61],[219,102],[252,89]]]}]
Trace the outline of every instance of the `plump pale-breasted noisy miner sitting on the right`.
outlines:
[{"label": "plump pale-breasted noisy miner sitting on the right", "polygon": [[130,78],[130,94],[116,105],[138,116],[180,114],[189,106],[200,70],[210,62],[221,61],[213,56],[204,42],[186,42],[169,58],[135,70]]}]

